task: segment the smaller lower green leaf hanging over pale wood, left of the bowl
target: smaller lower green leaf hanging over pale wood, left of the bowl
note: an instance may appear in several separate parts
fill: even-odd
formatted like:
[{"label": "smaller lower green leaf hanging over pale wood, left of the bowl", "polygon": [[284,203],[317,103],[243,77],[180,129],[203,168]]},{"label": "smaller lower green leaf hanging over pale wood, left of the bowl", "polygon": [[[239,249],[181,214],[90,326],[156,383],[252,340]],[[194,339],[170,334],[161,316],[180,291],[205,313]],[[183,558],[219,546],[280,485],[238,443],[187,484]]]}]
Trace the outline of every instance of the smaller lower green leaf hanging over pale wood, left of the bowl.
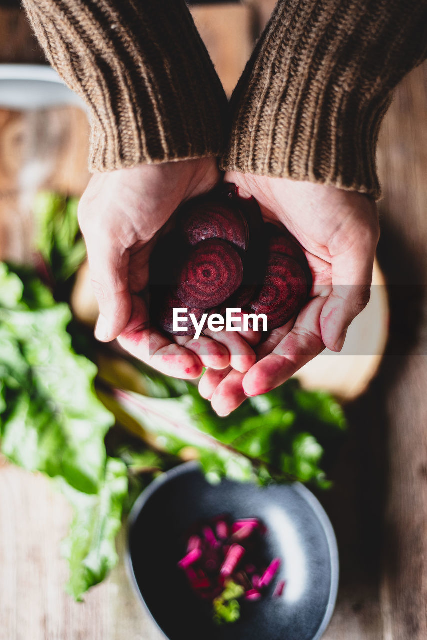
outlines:
[{"label": "smaller lower green leaf hanging over pale wood, left of the bowl", "polygon": [[102,582],[117,563],[115,538],[122,526],[122,507],[127,496],[127,468],[109,458],[99,492],[87,495],[69,484],[61,488],[74,507],[74,519],[62,551],[70,565],[67,591],[75,600]]}]

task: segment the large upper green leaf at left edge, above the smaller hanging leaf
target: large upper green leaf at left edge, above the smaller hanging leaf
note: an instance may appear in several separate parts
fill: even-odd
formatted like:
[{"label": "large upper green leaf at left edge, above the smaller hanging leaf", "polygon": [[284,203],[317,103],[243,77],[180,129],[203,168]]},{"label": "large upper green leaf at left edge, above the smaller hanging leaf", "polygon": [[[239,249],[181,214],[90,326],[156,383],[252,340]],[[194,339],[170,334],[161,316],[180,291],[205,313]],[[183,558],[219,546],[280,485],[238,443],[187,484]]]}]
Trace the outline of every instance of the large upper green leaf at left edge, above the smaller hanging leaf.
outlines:
[{"label": "large upper green leaf at left edge, above the smaller hanging leaf", "polygon": [[0,307],[2,450],[24,468],[94,493],[114,417],[93,390],[95,365],[71,348],[70,317],[65,304],[31,310],[25,298],[15,309]]}]

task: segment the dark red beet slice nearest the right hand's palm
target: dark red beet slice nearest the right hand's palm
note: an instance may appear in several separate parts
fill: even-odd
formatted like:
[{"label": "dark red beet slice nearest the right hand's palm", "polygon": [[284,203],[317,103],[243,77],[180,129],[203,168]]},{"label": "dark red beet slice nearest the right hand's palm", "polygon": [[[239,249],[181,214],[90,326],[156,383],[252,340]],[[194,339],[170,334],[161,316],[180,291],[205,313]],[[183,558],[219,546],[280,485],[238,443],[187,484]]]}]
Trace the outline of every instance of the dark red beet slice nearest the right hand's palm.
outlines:
[{"label": "dark red beet slice nearest the right hand's palm", "polygon": [[256,314],[266,314],[271,331],[286,324],[303,307],[308,292],[302,266],[287,255],[271,253],[261,290],[249,306]]}]

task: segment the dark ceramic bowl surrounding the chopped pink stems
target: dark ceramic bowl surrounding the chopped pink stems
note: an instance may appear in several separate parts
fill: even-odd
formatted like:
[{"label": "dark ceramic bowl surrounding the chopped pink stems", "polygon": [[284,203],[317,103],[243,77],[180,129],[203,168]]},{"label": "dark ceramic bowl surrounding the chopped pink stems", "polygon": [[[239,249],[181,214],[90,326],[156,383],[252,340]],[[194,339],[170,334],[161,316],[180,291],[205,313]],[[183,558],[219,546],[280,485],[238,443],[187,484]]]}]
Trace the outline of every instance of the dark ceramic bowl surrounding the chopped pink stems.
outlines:
[{"label": "dark ceramic bowl surrounding the chopped pink stems", "polygon": [[[191,593],[177,562],[182,536],[200,519],[229,513],[267,525],[266,559],[280,557],[280,598],[243,602],[241,619],[216,627]],[[332,525],[302,484],[223,480],[207,483],[197,464],[163,474],[137,500],[129,520],[128,565],[134,585],[169,640],[318,640],[332,617],[339,564]]]}]

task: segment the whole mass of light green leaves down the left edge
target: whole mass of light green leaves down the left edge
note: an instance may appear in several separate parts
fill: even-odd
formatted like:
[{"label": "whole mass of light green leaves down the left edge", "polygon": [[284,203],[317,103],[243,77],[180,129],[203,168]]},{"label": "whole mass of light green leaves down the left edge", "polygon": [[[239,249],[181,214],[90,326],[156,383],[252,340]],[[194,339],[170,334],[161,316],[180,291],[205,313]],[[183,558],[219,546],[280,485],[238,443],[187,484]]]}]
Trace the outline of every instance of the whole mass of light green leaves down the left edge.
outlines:
[{"label": "whole mass of light green leaves down the left edge", "polygon": [[75,509],[65,549],[69,591],[104,579],[128,495],[127,467],[107,458],[114,417],[97,398],[97,369],[71,348],[67,305],[28,269],[0,263],[0,436],[3,454],[55,477]]}]

